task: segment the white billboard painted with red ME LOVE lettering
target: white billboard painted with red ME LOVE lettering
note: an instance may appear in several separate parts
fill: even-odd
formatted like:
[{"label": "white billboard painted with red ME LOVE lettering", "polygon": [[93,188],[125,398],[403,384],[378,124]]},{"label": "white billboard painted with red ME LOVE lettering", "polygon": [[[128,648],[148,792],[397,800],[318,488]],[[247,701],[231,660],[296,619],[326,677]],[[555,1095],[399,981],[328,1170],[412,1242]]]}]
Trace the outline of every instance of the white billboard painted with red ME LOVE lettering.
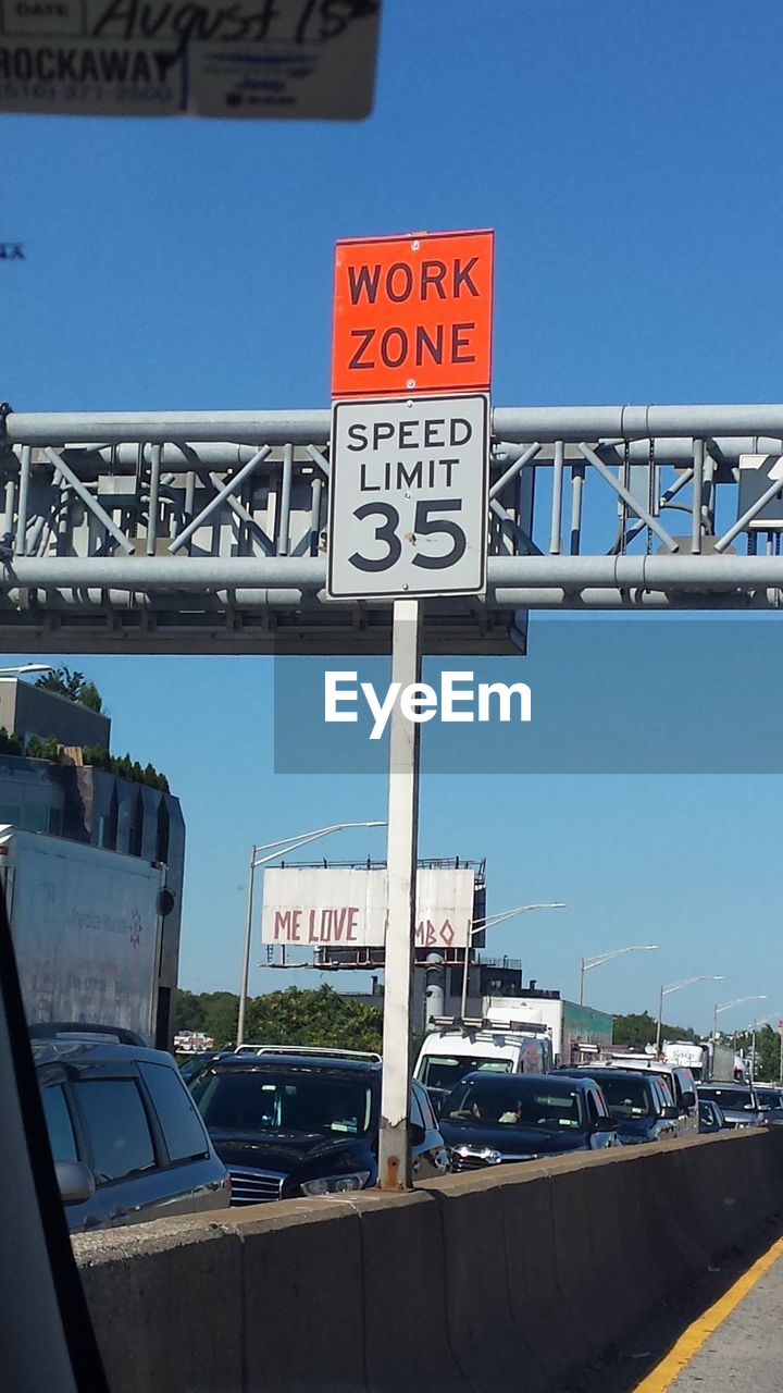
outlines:
[{"label": "white billboard painted with red ME LOVE lettering", "polygon": [[[383,947],[386,871],[284,866],[263,875],[262,943],[287,947]],[[474,917],[474,872],[417,873],[417,947],[465,947]]]}]

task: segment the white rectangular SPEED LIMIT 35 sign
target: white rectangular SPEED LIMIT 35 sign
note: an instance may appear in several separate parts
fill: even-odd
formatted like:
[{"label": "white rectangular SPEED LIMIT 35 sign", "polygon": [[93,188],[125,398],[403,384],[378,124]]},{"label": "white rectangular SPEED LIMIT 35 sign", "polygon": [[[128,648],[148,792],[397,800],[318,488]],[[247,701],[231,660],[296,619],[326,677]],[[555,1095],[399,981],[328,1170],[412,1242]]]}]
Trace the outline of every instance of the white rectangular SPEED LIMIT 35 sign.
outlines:
[{"label": "white rectangular SPEED LIMIT 35 sign", "polygon": [[489,397],[336,401],[333,599],[486,588]]}]

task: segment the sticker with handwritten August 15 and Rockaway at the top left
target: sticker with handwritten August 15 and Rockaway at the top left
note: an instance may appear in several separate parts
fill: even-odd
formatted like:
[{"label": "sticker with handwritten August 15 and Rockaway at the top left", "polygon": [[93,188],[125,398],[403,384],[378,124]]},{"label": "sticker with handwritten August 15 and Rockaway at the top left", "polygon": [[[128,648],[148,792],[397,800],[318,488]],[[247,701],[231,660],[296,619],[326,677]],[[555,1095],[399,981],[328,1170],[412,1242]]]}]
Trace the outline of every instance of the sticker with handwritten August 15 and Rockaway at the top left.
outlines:
[{"label": "sticker with handwritten August 15 and Rockaway at the top left", "polygon": [[369,116],[380,0],[3,0],[0,111]]}]

